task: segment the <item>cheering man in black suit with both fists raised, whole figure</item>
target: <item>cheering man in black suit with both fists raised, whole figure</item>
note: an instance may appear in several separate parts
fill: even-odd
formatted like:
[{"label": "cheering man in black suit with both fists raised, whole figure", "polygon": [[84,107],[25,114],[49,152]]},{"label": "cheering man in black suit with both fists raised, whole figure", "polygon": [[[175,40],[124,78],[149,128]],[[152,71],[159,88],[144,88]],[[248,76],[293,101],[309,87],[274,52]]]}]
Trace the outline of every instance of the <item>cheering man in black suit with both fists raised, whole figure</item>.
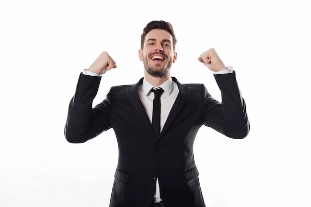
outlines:
[{"label": "cheering man in black suit with both fists raised, whole figure", "polygon": [[116,62],[102,52],[79,76],[65,136],[71,143],[83,143],[110,128],[115,131],[119,160],[110,207],[205,207],[193,156],[199,128],[205,125],[231,138],[244,138],[249,132],[232,68],[214,49],[198,58],[214,71],[222,92],[220,104],[203,84],[181,84],[170,76],[177,59],[175,44],[170,23],[150,22],[139,50],[144,78],[112,87],[94,108],[101,75],[116,68]]}]

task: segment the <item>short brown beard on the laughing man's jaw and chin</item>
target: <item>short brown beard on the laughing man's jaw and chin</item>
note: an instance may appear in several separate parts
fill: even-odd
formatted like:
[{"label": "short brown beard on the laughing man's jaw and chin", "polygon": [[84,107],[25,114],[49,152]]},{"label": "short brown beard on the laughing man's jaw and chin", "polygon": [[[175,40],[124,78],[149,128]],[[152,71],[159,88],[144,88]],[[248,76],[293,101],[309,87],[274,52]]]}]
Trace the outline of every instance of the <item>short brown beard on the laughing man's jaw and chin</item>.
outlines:
[{"label": "short brown beard on the laughing man's jaw and chin", "polygon": [[161,78],[167,75],[170,67],[172,66],[173,60],[172,60],[172,57],[170,57],[166,65],[156,63],[154,67],[148,64],[147,57],[144,57],[143,62],[144,62],[145,70],[147,71],[148,74],[156,78]]}]

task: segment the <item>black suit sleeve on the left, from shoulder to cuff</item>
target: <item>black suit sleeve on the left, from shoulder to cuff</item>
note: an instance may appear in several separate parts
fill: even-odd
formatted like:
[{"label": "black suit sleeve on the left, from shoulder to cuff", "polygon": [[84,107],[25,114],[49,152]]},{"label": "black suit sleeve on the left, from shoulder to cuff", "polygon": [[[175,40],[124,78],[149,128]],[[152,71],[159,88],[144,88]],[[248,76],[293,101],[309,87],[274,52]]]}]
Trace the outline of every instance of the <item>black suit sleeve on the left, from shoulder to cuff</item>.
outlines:
[{"label": "black suit sleeve on the left, from shoulder to cuff", "polygon": [[110,104],[107,100],[92,108],[101,77],[80,74],[65,125],[65,137],[70,143],[83,143],[111,128]]}]

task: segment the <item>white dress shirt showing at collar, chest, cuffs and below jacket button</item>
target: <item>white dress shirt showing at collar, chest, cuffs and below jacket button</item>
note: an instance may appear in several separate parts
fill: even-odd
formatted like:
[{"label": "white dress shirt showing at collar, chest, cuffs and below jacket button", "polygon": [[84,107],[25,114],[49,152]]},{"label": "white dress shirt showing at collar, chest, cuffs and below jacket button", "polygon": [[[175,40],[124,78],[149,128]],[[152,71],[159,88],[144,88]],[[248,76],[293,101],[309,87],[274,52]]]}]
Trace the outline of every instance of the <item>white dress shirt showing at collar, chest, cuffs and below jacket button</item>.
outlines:
[{"label": "white dress shirt showing at collar, chest, cuffs and below jacket button", "polygon": [[[106,72],[106,71],[105,71]],[[227,67],[227,70],[222,70],[219,72],[214,72],[215,75],[218,74],[225,74],[225,73],[232,73],[233,67]],[[86,69],[82,71],[84,75],[91,75],[91,76],[101,76],[96,73],[90,72]],[[160,100],[161,100],[161,114],[160,114],[160,131],[162,131],[165,121],[168,117],[168,114],[178,96],[179,89],[177,84],[169,78],[167,81],[162,83],[158,87],[154,87],[150,83],[148,83],[145,79],[143,80],[143,85],[138,87],[138,96],[144,105],[145,111],[148,115],[150,123],[152,122],[152,112],[153,112],[153,101],[155,98],[155,94],[150,90],[152,88],[162,88],[164,92],[162,93]],[[154,202],[160,202],[160,189],[158,184],[158,179],[156,179],[156,193],[154,196]]]}]

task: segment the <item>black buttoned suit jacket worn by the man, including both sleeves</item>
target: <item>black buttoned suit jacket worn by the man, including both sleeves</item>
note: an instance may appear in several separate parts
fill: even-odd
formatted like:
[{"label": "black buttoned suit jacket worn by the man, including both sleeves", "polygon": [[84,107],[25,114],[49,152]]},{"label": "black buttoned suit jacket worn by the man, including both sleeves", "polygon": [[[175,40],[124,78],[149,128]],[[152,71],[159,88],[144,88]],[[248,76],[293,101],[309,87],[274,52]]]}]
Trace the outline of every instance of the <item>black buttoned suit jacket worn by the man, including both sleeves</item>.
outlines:
[{"label": "black buttoned suit jacket worn by the man, including both sleeves", "polygon": [[100,77],[80,74],[69,105],[66,139],[82,143],[113,128],[119,147],[110,207],[150,207],[156,179],[165,207],[205,207],[193,144],[202,125],[231,138],[244,138],[249,123],[235,73],[215,76],[222,104],[203,84],[180,84],[179,94],[157,138],[135,85],[116,86],[92,108]]}]

